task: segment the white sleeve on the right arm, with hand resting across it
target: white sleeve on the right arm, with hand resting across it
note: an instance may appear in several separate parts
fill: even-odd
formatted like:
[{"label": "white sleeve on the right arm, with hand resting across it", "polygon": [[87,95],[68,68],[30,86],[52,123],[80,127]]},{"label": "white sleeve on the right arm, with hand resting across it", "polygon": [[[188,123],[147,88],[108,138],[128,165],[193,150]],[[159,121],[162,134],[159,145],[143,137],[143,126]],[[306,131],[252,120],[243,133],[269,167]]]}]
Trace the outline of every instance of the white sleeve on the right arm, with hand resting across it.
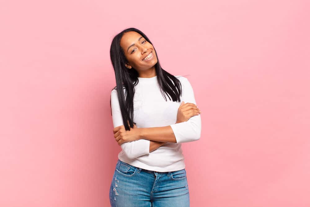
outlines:
[{"label": "white sleeve on the right arm, with hand resting across it", "polygon": [[[179,77],[182,83],[181,102],[196,104],[192,85],[185,77]],[[200,139],[201,134],[201,116],[192,116],[188,121],[171,124],[173,133],[175,134],[176,143],[193,142]]]}]

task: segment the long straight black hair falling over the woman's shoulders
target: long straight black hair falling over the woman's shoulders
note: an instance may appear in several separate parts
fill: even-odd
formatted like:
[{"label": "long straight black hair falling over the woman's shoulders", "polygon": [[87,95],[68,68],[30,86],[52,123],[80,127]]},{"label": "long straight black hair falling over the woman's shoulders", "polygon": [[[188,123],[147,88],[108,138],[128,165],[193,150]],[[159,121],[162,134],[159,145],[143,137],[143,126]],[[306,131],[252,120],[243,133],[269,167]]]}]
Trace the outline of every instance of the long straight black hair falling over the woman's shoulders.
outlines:
[{"label": "long straight black hair falling over the woman's shoulders", "polygon": [[[121,108],[124,127],[126,130],[130,130],[130,128],[133,128],[133,124],[136,124],[135,122],[133,122],[133,112],[134,112],[133,98],[135,94],[134,86],[139,83],[138,72],[134,68],[128,69],[125,67],[125,64],[128,61],[126,60],[124,51],[120,46],[122,36],[124,35],[124,33],[129,31],[135,31],[141,34],[142,37],[144,37],[150,44],[152,44],[151,41],[148,39],[148,37],[139,29],[136,28],[124,29],[122,32],[118,33],[113,38],[111,43],[110,58],[114,68],[115,80],[116,80],[116,86],[112,90],[114,89],[117,90],[118,101]],[[158,85],[160,87],[162,96],[165,98],[166,101],[167,99],[165,94],[167,94],[168,97],[170,96],[172,101],[180,102],[182,87],[179,79],[177,79],[174,75],[168,73],[166,70],[162,69],[162,67],[159,64],[158,54],[156,50],[155,54],[157,56],[157,63],[155,64],[155,70],[157,74]],[[124,88],[126,89],[125,94],[124,94]],[[171,101],[170,97],[169,100]],[[110,97],[110,107],[111,107],[111,97]],[[111,115],[112,115],[112,108],[111,108]]]}]

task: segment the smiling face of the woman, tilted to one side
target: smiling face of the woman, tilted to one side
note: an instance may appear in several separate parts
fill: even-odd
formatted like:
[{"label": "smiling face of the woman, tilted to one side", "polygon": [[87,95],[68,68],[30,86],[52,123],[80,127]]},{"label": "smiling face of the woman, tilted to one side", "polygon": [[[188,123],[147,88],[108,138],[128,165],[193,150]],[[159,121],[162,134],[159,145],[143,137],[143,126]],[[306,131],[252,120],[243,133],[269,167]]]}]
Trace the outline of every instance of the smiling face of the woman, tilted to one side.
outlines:
[{"label": "smiling face of the woman, tilted to one side", "polygon": [[134,68],[139,74],[154,67],[157,63],[153,45],[137,32],[126,32],[120,45],[128,61],[125,66],[129,69]]}]

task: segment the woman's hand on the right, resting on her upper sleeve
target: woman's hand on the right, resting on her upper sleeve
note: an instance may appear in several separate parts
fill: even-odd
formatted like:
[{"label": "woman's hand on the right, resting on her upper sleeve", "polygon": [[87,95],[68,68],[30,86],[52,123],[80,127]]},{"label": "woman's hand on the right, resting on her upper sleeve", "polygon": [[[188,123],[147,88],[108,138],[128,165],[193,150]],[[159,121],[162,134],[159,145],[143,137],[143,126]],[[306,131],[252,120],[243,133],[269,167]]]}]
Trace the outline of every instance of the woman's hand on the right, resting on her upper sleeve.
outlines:
[{"label": "woman's hand on the right, resting on her upper sleeve", "polygon": [[178,109],[176,123],[188,121],[189,118],[191,118],[192,116],[197,116],[200,113],[201,111],[198,109],[197,105],[193,103],[184,104],[184,101],[182,101]]}]

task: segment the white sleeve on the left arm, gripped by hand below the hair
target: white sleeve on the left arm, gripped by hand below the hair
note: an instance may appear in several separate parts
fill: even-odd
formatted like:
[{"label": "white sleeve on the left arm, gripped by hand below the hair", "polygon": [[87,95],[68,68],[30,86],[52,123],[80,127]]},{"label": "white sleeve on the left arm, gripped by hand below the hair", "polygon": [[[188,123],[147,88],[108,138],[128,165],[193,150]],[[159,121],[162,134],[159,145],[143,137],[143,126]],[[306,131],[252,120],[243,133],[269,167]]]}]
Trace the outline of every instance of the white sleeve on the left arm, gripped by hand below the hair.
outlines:
[{"label": "white sleeve on the left arm, gripped by hand below the hair", "polygon": [[[113,89],[111,92],[111,109],[113,127],[124,125],[116,89]],[[120,146],[128,158],[134,159],[141,155],[149,154],[150,141],[147,139],[139,139],[132,142],[124,142]]]}]

